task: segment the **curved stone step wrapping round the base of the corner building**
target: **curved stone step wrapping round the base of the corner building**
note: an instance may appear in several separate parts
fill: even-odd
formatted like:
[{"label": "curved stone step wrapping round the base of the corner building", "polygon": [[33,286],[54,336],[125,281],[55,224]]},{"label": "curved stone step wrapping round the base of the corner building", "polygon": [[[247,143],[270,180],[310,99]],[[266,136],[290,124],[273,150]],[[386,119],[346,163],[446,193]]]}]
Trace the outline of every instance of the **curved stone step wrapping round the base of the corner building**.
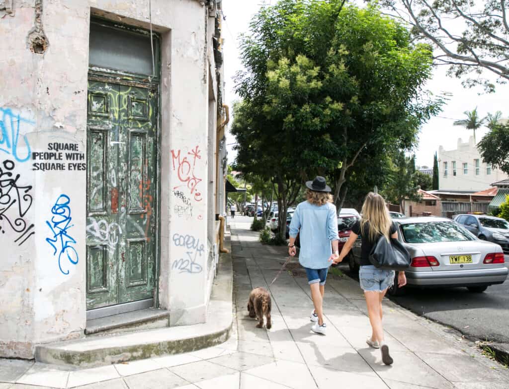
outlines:
[{"label": "curved stone step wrapping round the base of the corner building", "polygon": [[205,323],[40,344],[35,360],[90,368],[190,352],[227,341],[233,322],[233,269],[230,239],[224,243],[230,252],[220,254]]}]

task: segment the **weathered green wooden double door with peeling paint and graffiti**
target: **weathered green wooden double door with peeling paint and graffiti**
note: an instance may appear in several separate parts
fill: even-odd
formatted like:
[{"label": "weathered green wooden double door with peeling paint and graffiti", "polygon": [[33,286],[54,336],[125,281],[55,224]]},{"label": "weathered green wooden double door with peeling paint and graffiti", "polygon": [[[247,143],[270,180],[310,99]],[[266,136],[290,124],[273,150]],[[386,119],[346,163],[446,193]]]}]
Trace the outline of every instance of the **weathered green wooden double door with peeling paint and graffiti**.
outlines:
[{"label": "weathered green wooden double door with peeling paint and graffiti", "polygon": [[154,295],[157,106],[155,90],[89,81],[87,309]]}]

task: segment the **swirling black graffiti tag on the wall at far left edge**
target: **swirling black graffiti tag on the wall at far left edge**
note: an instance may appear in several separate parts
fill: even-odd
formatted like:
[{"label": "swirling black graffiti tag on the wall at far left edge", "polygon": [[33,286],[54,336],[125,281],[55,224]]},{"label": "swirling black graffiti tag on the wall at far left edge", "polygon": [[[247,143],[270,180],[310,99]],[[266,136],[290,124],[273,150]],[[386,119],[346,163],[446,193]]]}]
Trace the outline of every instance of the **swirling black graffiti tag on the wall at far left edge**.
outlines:
[{"label": "swirling black graffiti tag on the wall at far left edge", "polygon": [[[12,230],[19,234],[14,240],[21,246],[34,232],[34,224],[25,220],[26,212],[32,207],[33,198],[31,185],[22,186],[18,183],[19,174],[14,174],[14,161],[6,159],[0,165],[0,221],[5,220]],[[5,234],[5,223],[0,225],[0,231]]]}]

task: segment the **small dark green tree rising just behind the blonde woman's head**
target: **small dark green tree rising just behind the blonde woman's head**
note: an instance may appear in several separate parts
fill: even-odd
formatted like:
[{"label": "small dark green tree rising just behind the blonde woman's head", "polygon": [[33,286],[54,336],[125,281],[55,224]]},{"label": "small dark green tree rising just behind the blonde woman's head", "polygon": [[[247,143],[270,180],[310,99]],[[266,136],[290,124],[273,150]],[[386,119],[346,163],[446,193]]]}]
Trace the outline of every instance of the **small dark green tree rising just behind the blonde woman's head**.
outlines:
[{"label": "small dark green tree rising just behind the blonde woman's head", "polygon": [[383,196],[387,201],[398,204],[402,212],[403,200],[420,201],[415,156],[408,157],[403,150],[396,153],[388,181],[382,190]]}]

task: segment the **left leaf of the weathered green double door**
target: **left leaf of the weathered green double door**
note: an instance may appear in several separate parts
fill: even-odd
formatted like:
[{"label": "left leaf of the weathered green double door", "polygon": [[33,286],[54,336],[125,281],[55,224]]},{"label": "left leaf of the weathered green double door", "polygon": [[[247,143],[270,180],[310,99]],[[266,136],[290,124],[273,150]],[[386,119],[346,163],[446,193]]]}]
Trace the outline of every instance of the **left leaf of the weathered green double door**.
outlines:
[{"label": "left leaf of the weathered green double door", "polygon": [[[87,118],[87,309],[117,304],[115,204],[119,85],[89,82]],[[114,200],[114,201],[112,201]]]}]

